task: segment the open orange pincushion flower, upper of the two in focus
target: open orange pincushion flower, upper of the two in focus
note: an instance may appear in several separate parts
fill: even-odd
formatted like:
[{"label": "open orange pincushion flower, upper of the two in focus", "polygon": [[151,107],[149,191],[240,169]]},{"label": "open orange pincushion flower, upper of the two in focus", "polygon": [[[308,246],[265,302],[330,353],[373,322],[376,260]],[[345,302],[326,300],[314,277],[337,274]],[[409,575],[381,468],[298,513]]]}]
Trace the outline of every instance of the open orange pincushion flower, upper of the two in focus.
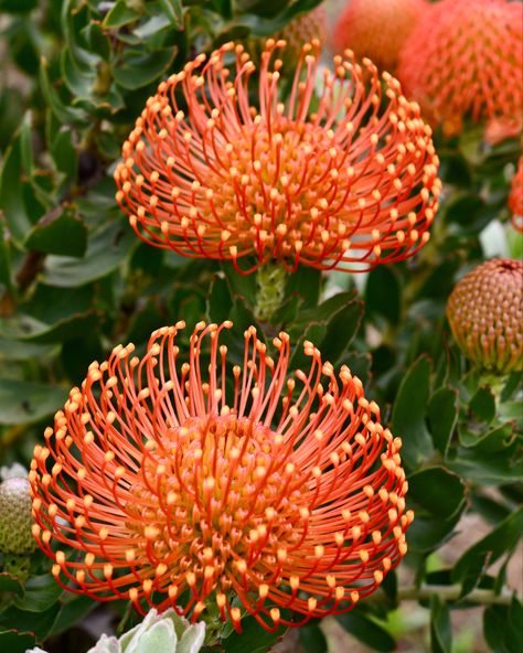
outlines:
[{"label": "open orange pincushion flower, upper of the two in focus", "polygon": [[[387,73],[382,90],[372,62],[365,74],[346,51],[335,74],[324,69],[312,109],[318,42],[303,46],[284,104],[284,46],[266,43],[259,110],[249,104],[255,66],[234,43],[160,84],[115,171],[131,226],[158,247],[230,259],[244,274],[274,259],[289,270],[361,270],[412,256],[429,237],[440,190],[419,107]],[[241,270],[248,255],[257,263]]]}]

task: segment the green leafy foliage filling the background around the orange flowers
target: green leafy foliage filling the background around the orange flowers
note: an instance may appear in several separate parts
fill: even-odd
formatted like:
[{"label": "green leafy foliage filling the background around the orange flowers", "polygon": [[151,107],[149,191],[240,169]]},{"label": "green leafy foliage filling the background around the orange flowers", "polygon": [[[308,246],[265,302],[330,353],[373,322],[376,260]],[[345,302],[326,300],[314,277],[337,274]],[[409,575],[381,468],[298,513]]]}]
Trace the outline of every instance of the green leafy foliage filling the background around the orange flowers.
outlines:
[{"label": "green leafy foliage filling the background around the orange flowers", "polygon": [[[255,276],[141,244],[111,172],[161,78],[231,39],[276,34],[318,4],[0,0],[1,464],[29,467],[70,387],[115,344],[143,349],[179,319],[256,323]],[[335,20],[335,2],[327,6]],[[463,274],[522,255],[506,206],[520,142],[491,147],[470,127],[452,140],[437,132],[436,143],[442,205],[420,254],[369,275],[299,269],[258,324],[267,338],[290,333],[293,367],[307,339],[363,379],[404,439],[416,511],[407,558],[383,588],[293,633],[287,651],[523,650],[521,375],[493,383],[471,370],[445,319]],[[64,595],[39,553],[25,582],[0,574],[0,649],[14,653],[44,640],[49,651],[84,651],[125,610]],[[245,631],[227,651],[265,650],[271,635]]]}]

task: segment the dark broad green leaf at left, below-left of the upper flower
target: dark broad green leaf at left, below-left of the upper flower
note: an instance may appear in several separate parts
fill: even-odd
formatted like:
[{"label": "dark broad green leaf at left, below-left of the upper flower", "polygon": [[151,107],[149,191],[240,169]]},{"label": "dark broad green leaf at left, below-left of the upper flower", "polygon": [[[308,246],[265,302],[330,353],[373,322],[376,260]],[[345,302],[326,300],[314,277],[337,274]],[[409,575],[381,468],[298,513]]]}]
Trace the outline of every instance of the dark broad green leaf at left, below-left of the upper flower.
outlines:
[{"label": "dark broad green leaf at left, below-left of the upper flower", "polygon": [[87,227],[73,205],[58,206],[34,225],[24,246],[45,254],[81,257],[87,247]]}]

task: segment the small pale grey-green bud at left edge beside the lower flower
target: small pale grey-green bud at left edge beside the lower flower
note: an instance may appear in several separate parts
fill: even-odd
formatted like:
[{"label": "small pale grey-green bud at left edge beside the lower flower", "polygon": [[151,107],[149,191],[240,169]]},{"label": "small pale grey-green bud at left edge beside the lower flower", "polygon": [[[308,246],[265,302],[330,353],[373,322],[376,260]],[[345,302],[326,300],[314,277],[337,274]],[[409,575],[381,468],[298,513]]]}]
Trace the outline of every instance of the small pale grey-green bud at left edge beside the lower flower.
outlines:
[{"label": "small pale grey-green bud at left edge beside the lower flower", "polygon": [[29,480],[14,477],[0,483],[0,552],[32,553],[36,548],[32,523]]}]

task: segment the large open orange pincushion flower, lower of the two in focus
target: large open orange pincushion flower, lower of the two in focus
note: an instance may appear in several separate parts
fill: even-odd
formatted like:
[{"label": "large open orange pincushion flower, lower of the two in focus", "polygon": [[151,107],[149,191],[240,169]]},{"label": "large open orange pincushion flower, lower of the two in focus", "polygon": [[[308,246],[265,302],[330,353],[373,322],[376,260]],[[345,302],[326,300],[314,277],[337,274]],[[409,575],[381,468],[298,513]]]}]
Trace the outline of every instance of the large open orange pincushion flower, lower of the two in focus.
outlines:
[{"label": "large open orange pincushion flower, lower of the two in focus", "polygon": [[360,379],[310,342],[291,376],[289,336],[270,357],[254,326],[230,366],[231,326],[196,324],[185,363],[183,322],[142,360],[118,345],[35,447],[33,533],[67,589],[239,630],[237,597],[274,630],[350,610],[405,554],[402,441]]}]

